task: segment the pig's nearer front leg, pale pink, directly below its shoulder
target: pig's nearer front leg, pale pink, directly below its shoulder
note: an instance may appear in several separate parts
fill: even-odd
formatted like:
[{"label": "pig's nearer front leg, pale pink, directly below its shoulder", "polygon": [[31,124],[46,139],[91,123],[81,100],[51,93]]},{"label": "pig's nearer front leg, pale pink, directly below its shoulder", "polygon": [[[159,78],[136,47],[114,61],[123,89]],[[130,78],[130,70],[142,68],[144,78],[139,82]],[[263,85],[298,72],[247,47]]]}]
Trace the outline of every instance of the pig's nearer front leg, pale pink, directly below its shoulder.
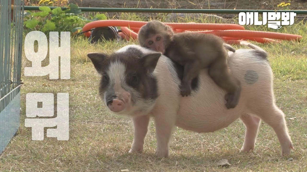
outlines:
[{"label": "pig's nearer front leg, pale pink, directly below its shoulder", "polygon": [[169,156],[169,140],[175,125],[175,117],[175,113],[168,113],[166,110],[164,112],[161,110],[161,113],[154,117],[157,137],[156,155],[158,157],[163,158]]}]

